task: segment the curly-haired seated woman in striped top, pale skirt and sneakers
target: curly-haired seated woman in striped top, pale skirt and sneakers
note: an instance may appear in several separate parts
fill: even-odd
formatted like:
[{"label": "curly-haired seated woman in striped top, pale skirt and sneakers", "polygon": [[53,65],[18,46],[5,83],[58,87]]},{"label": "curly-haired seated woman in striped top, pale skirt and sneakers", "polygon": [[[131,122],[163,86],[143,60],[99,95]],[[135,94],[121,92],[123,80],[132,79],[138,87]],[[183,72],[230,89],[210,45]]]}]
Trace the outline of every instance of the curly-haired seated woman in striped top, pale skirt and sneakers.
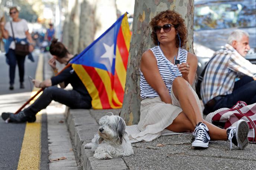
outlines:
[{"label": "curly-haired seated woman in striped top, pale skirt and sneakers", "polygon": [[207,148],[210,139],[230,140],[243,150],[249,142],[246,121],[224,130],[203,120],[199,98],[192,88],[198,60],[181,48],[187,41],[182,16],[166,10],[151,19],[150,26],[156,46],[141,57],[141,132],[130,134],[130,139],[151,141],[166,128],[174,132],[194,131],[192,147]]}]

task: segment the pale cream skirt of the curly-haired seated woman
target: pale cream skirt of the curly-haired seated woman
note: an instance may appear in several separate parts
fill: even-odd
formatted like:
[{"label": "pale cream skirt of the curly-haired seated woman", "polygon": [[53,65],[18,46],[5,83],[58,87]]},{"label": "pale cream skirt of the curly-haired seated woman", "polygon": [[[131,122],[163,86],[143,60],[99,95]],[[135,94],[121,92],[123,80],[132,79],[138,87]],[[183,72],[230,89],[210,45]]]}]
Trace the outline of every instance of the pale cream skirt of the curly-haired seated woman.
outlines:
[{"label": "pale cream skirt of the curly-haired seated woman", "polygon": [[[198,107],[202,114],[199,98],[191,85],[189,83],[188,85],[196,98]],[[161,101],[160,97],[146,98],[141,101],[140,122],[138,125],[127,127],[127,133],[130,140],[133,141],[132,143],[138,141],[149,142],[158,138],[162,134],[162,131],[172,124],[173,120],[175,120],[180,112],[182,112],[180,103],[172,90],[170,96],[172,98],[172,104],[166,104]],[[172,134],[171,131],[170,133]]]}]

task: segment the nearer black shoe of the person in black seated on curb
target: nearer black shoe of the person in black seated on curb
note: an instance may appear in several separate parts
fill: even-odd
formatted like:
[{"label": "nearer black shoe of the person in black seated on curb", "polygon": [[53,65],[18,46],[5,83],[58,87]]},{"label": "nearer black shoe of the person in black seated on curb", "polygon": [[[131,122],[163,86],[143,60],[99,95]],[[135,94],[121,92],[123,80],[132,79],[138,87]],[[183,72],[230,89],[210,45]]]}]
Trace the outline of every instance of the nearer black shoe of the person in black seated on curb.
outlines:
[{"label": "nearer black shoe of the person in black seated on curb", "polygon": [[35,115],[26,115],[23,111],[20,111],[17,114],[11,114],[10,113],[10,122],[15,123],[22,123],[22,122],[35,122],[36,116]]}]

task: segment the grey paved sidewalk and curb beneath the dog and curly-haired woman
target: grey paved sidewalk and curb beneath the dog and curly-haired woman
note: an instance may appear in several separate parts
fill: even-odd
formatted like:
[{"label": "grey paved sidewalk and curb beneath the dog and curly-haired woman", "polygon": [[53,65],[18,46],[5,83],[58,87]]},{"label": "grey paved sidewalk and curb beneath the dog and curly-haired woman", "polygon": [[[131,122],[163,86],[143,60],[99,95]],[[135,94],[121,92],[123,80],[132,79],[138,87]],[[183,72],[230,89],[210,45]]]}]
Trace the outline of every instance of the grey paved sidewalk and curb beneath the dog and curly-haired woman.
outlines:
[{"label": "grey paved sidewalk and curb beneath the dog and curly-haired woman", "polygon": [[196,150],[191,147],[192,134],[167,135],[152,142],[134,143],[132,156],[97,160],[84,145],[97,133],[102,116],[108,112],[118,115],[119,111],[70,109],[65,113],[83,169],[256,169],[255,144],[248,144],[245,150],[233,145],[230,150],[229,141],[211,141],[209,148]]}]

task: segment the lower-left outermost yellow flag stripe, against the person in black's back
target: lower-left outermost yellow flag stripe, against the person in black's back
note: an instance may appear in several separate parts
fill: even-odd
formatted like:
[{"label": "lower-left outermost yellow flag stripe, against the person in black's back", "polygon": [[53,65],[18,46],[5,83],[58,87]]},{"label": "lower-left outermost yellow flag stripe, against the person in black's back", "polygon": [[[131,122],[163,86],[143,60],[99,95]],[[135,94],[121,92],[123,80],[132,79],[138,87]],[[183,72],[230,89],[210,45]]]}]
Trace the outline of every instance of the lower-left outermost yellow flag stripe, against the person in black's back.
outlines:
[{"label": "lower-left outermost yellow flag stripe, against the person in black's back", "polygon": [[89,74],[86,72],[82,65],[73,64],[72,68],[77,73],[84,86],[86,87],[87,91],[89,92],[90,96],[92,97],[92,107],[95,109],[102,109],[99,92]]}]

